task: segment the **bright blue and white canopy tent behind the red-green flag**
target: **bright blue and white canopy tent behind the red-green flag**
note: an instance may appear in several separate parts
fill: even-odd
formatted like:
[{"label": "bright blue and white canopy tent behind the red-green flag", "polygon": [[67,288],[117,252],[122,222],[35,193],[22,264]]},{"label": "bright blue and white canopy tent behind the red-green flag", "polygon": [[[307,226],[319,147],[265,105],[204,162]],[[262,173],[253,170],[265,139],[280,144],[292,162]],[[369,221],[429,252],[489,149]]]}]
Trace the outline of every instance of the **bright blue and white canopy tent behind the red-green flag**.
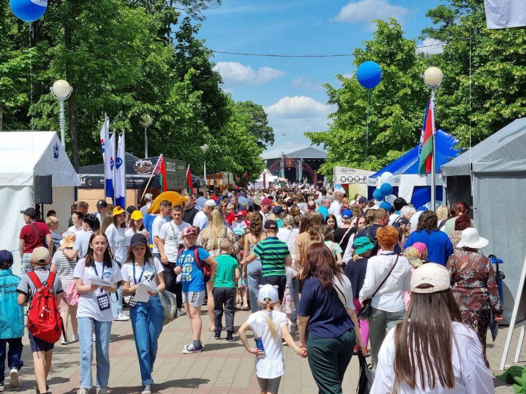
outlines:
[{"label": "bright blue and white canopy tent behind the red-green flag", "polygon": [[[437,130],[435,155],[435,169],[437,173],[435,180],[437,185],[436,199],[439,202],[442,201],[443,195],[443,180],[442,174],[440,173],[440,166],[460,154],[457,143],[458,140],[446,131],[442,129]],[[420,161],[418,148],[419,145],[369,177],[367,180],[369,199],[372,199],[373,191],[380,185],[380,176],[384,172],[391,172],[395,175],[395,179],[392,182],[392,194],[411,202],[417,208],[431,201],[431,174],[425,176],[418,174],[418,163]]]}]

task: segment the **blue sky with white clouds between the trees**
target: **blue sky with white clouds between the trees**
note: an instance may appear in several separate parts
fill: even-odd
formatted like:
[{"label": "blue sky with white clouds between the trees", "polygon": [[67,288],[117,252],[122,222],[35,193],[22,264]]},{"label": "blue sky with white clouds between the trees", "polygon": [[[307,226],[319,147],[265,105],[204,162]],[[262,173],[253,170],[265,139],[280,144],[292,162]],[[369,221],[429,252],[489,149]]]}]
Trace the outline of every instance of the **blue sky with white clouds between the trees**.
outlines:
[{"label": "blue sky with white clouds between the trees", "polygon": [[[417,38],[439,0],[223,0],[205,13],[200,37],[215,50],[279,55],[352,53],[372,37],[372,19],[396,17],[406,37]],[[419,41],[420,43],[420,41]],[[426,43],[428,44],[428,43]],[[430,49],[438,47],[430,47]],[[306,146],[306,131],[327,130],[323,84],[351,75],[352,57],[277,58],[215,54],[224,89],[237,101],[265,107],[274,149]]]}]

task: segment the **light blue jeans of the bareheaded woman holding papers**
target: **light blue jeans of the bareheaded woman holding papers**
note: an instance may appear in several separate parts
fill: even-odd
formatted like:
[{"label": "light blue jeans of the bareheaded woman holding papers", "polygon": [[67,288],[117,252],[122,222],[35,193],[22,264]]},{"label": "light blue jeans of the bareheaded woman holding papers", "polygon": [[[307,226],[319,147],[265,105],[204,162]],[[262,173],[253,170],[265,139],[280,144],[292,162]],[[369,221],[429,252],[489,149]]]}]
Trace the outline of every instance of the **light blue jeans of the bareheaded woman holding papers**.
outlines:
[{"label": "light blue jeans of the bareheaded woman holding papers", "polygon": [[93,317],[78,317],[78,336],[80,343],[80,387],[93,387],[93,331],[95,330],[95,349],[97,350],[97,379],[95,387],[108,386],[109,379],[109,337],[112,322],[99,322]]}]

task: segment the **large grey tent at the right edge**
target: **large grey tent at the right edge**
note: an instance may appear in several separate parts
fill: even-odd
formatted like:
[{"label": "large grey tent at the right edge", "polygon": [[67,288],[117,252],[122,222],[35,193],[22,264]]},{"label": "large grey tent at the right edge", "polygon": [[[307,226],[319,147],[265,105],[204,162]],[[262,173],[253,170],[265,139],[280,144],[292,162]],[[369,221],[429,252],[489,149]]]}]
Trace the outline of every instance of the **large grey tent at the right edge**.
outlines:
[{"label": "large grey tent at the right edge", "polygon": [[[441,167],[448,201],[473,206],[474,225],[490,242],[484,252],[504,261],[504,322],[509,322],[526,256],[524,152],[526,118],[514,120]],[[523,294],[517,321],[525,317]]]}]

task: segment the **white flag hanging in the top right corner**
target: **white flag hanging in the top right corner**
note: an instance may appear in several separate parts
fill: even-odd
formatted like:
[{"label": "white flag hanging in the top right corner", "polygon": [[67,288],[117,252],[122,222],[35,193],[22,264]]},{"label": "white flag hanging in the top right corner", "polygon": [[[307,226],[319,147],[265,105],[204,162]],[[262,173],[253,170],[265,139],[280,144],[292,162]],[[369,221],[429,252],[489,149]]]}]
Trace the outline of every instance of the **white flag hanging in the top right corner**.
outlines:
[{"label": "white flag hanging in the top right corner", "polygon": [[488,29],[526,26],[526,1],[484,0]]}]

